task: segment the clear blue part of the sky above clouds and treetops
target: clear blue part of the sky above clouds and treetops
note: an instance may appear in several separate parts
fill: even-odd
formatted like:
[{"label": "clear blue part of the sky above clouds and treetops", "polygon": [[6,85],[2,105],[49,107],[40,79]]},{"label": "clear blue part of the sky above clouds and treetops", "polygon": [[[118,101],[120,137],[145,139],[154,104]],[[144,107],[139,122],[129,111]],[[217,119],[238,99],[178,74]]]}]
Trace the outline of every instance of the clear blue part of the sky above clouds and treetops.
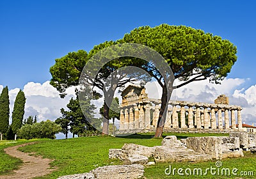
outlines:
[{"label": "clear blue part of the sky above clouds and treetops", "polygon": [[[0,84],[10,89],[51,79],[54,59],[90,51],[139,26],[186,25],[237,46],[228,77],[250,78],[256,65],[255,1],[0,1]],[[250,86],[250,84],[246,84]]]}]

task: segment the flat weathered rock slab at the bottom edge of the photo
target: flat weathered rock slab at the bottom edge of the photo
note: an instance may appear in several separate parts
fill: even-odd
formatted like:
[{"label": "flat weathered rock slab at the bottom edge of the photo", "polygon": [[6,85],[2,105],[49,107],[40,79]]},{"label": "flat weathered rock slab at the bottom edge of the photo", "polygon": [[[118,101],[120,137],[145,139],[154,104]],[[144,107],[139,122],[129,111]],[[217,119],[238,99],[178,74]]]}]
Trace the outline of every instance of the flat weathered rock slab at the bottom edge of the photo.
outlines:
[{"label": "flat weathered rock slab at the bottom edge of the photo", "polygon": [[104,166],[93,169],[91,173],[97,179],[135,179],[143,177],[144,167],[140,164]]}]

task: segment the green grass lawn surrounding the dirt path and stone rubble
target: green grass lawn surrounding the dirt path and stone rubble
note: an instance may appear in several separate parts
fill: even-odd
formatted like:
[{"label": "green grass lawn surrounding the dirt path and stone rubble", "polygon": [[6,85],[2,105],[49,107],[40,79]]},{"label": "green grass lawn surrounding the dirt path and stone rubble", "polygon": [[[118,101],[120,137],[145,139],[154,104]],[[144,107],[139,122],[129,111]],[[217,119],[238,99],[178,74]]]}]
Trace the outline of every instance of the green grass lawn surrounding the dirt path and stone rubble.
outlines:
[{"label": "green grass lawn surrounding the dirt path and stone rubble", "polygon": [[[52,167],[56,167],[57,170],[51,175],[47,175],[40,178],[58,178],[62,175],[72,175],[76,173],[85,173],[99,166],[122,164],[119,160],[109,160],[108,150],[109,148],[121,148],[124,143],[143,144],[145,146],[161,145],[162,139],[152,139],[154,134],[134,134],[132,136],[125,137],[81,137],[74,139],[61,139],[61,140],[37,140],[38,143],[28,145],[20,148],[23,152],[36,152],[36,155],[42,155],[49,159],[54,159],[51,163]],[[227,136],[227,134],[190,134],[190,133],[164,133],[164,136],[175,135],[178,139],[193,137],[193,136]],[[28,141],[18,141],[15,144],[25,143]],[[3,148],[12,146],[14,143],[1,144],[0,143],[0,174],[15,169],[20,164],[20,160],[13,159],[3,153]],[[152,160],[152,159],[151,159]],[[165,175],[164,170],[170,165],[176,168],[186,169],[190,167],[194,169],[201,167],[202,171],[205,171],[207,167],[216,167],[216,160],[209,162],[181,162],[181,163],[163,163],[156,164],[155,166],[145,167],[145,176],[147,178],[221,178],[221,176],[212,176],[209,172],[208,175],[202,176],[179,176],[179,175]],[[229,167],[230,169],[237,167],[239,171],[253,171],[256,178],[256,155],[252,155],[250,152],[245,152],[245,157],[237,159],[225,159],[222,160],[223,167]],[[6,167],[6,164],[11,164]],[[184,171],[183,171],[184,172]],[[241,178],[241,176],[229,176],[228,178]],[[227,177],[224,177],[227,178]],[[250,177],[243,177],[250,178]]]}]

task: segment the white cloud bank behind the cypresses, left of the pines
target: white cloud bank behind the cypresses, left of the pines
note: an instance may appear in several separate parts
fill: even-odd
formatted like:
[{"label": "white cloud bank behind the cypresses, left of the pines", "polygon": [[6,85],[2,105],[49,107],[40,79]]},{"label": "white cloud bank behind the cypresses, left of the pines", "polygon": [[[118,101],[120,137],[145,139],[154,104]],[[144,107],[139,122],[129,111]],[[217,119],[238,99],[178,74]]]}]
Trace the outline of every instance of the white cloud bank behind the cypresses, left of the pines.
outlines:
[{"label": "white cloud bank behind the cypresses, left of the pines", "polygon": [[[3,86],[0,85],[0,89]],[[76,97],[75,88],[67,89],[67,96],[60,98],[59,92],[52,87],[49,81],[43,84],[28,82],[24,86],[24,93],[26,96],[25,114],[24,118],[28,116],[37,116],[38,121],[56,120],[61,116],[60,109],[63,107],[67,109],[67,104],[71,97]],[[12,122],[12,111],[15,98],[20,89],[15,88],[9,91],[10,98],[10,123]]]}]

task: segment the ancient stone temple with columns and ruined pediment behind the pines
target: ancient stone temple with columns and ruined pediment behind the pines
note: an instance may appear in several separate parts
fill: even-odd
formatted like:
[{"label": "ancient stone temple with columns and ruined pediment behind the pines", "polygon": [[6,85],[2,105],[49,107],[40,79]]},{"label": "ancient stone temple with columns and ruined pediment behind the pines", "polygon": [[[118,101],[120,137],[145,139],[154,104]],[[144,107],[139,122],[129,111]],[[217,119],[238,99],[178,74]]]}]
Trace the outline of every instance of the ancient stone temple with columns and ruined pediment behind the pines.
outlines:
[{"label": "ancient stone temple with columns and ruined pediment behind the pines", "polygon": [[[164,130],[230,132],[242,130],[241,106],[220,95],[214,104],[170,101]],[[156,130],[161,100],[148,98],[146,89],[128,86],[122,92],[120,132]]]}]

